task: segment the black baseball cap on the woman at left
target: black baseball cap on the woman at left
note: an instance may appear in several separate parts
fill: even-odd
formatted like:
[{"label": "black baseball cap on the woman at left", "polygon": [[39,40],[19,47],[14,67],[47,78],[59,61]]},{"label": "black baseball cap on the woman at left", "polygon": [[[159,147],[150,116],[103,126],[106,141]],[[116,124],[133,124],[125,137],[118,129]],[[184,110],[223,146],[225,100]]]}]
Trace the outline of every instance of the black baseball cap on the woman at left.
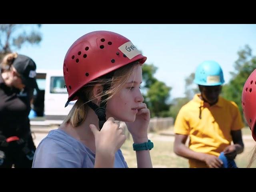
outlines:
[{"label": "black baseball cap on the woman at left", "polygon": [[18,55],[12,63],[12,66],[20,74],[22,83],[25,84],[27,88],[38,88],[36,83],[36,64],[31,58]]}]

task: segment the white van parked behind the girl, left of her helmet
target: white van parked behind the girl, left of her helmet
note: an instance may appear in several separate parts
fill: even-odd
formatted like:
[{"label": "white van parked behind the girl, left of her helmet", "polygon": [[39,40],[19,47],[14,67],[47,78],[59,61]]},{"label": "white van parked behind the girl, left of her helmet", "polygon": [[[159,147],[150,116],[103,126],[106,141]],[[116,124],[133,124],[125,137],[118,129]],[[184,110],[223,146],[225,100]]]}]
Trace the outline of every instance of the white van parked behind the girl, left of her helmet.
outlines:
[{"label": "white van parked behind the girl, left of her helmet", "polygon": [[[36,81],[39,91],[34,100],[34,110],[38,114],[30,119],[30,124],[61,124],[76,101],[64,107],[68,100],[62,70],[37,70]],[[44,122],[42,122],[44,121]]]}]

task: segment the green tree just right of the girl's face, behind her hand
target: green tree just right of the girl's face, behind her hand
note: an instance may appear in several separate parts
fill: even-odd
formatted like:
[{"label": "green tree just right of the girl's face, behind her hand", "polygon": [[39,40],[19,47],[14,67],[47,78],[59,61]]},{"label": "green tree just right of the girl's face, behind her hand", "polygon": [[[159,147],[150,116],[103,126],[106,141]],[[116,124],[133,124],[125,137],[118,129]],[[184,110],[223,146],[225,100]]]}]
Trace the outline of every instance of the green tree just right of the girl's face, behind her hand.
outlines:
[{"label": "green tree just right of the girl's face, behind her hand", "polygon": [[168,98],[172,88],[154,78],[156,70],[153,64],[142,65],[142,93],[144,102],[150,109],[151,117],[166,117],[170,115]]}]

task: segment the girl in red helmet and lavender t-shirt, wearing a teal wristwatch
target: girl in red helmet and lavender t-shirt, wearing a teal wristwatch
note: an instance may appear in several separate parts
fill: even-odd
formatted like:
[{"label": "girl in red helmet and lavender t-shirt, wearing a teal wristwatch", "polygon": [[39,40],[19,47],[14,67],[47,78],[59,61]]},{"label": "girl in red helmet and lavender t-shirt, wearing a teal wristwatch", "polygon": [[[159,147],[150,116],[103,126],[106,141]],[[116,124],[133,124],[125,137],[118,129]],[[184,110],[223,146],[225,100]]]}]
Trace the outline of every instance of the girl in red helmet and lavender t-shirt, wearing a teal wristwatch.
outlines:
[{"label": "girl in red helmet and lavender t-shirt, wearing a teal wristwatch", "polygon": [[150,111],[140,92],[141,52],[124,36],[95,31],[76,40],[66,53],[63,74],[68,102],[77,100],[57,130],[49,132],[32,167],[128,167],[120,147],[127,122],[138,168],[151,168]]}]

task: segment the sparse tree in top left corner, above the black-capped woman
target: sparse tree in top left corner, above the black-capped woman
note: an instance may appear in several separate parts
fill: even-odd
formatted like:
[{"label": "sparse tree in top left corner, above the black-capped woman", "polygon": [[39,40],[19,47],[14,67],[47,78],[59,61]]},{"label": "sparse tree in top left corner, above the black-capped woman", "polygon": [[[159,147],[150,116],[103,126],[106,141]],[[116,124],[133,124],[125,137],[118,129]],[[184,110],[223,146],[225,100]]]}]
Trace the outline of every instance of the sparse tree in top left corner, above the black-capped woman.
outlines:
[{"label": "sparse tree in top left corner, above the black-capped woman", "polygon": [[[28,34],[26,32],[28,26],[24,24],[0,24],[0,59],[5,54],[20,49],[26,42],[38,44],[42,40],[40,33],[34,29]],[[33,24],[32,26],[41,27],[40,24]]]}]

